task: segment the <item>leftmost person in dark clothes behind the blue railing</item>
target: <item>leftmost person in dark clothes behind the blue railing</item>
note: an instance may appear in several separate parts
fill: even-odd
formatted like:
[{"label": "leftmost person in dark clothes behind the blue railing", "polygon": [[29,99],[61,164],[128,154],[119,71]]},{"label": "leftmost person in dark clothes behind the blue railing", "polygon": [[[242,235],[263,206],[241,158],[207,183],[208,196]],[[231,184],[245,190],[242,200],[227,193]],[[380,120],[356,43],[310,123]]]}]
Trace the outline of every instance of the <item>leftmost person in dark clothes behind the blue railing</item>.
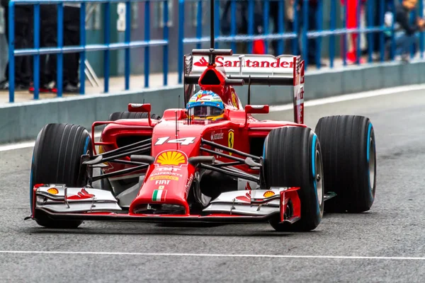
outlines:
[{"label": "leftmost person in dark clothes behind the blue railing", "polygon": [[[8,42],[8,0],[0,0],[4,7],[4,22],[6,42]],[[15,6],[15,49],[30,48],[33,46],[33,6],[16,5]],[[32,79],[31,56],[15,57],[15,90],[23,91],[28,89]],[[9,77],[8,64],[4,71],[4,80],[0,82],[0,91],[8,91]]]}]

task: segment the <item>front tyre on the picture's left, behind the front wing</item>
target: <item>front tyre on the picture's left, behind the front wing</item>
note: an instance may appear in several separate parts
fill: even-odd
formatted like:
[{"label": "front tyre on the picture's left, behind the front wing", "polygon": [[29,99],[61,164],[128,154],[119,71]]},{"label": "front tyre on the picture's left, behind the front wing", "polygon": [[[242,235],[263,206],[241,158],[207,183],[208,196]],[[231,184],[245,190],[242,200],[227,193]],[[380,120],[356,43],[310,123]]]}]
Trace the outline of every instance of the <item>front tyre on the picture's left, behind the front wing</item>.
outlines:
[{"label": "front tyre on the picture's left, behind the front wing", "polygon": [[[38,134],[33,150],[30,173],[30,203],[33,186],[66,184],[83,187],[86,177],[80,174],[81,155],[92,154],[91,137],[84,127],[69,124],[49,124]],[[32,210],[32,207],[31,207]],[[47,228],[77,228],[83,221],[55,221],[42,214],[35,219]]]}]

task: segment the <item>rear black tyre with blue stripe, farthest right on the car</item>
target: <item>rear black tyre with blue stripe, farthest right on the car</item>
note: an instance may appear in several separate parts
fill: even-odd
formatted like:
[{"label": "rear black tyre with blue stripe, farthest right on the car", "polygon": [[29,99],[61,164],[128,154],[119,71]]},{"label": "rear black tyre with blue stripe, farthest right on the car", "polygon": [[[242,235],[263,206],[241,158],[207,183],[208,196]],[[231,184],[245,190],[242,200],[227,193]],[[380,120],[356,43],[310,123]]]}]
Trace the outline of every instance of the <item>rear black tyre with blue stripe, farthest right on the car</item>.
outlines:
[{"label": "rear black tyre with blue stripe, farthest right on the car", "polygon": [[372,207],[376,187],[375,133],[363,116],[322,117],[315,129],[322,146],[324,191],[335,192],[326,212],[365,212]]}]

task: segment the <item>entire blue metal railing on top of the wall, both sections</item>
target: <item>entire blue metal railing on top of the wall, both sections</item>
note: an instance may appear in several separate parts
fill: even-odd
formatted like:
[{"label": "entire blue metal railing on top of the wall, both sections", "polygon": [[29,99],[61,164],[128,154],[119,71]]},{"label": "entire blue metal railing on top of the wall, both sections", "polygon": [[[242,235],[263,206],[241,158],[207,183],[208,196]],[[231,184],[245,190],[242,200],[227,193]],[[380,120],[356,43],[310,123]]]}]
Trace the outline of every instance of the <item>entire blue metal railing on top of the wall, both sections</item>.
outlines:
[{"label": "entire blue metal railing on top of the wall, both sections", "polygon": [[[373,53],[378,54],[378,61],[384,61],[385,54],[390,54],[389,59],[395,57],[395,24],[392,21],[387,22],[386,13],[395,12],[395,4],[400,0],[317,0],[317,5],[310,5],[311,0],[214,0],[215,1],[215,47],[229,47],[237,52],[242,43],[246,52],[251,53],[254,42],[263,40],[266,42],[266,53],[283,54],[290,52],[292,54],[301,54],[306,61],[306,67],[310,61],[321,68],[322,54],[326,53],[329,59],[329,67],[334,67],[336,50],[341,50],[341,59],[343,65],[348,64],[348,49],[355,45],[356,64],[362,64],[361,57],[366,55],[367,61],[373,62]],[[356,1],[356,2],[353,2]],[[80,44],[79,46],[63,46],[63,5],[67,2],[81,3],[80,9]],[[111,42],[111,4],[125,2],[125,40],[124,42]],[[131,2],[143,2],[144,13],[140,13],[143,22],[144,40],[133,41],[130,37],[130,11]],[[151,39],[151,29],[154,16],[151,16],[151,5],[154,2],[162,2],[162,18],[164,23],[162,28],[162,39]],[[178,34],[169,38],[169,2],[178,3],[177,26],[174,30]],[[110,74],[110,52],[111,50],[125,50],[125,90],[130,88],[130,49],[144,48],[144,72],[145,87],[149,86],[149,64],[151,56],[149,49],[151,47],[163,47],[162,58],[156,58],[156,61],[162,61],[162,71],[164,72],[164,85],[168,83],[169,74],[169,46],[177,46],[177,70],[178,83],[182,83],[183,75],[183,54],[191,48],[209,47],[210,42],[210,0],[11,0],[9,2],[9,100],[14,100],[14,57],[33,56],[33,84],[34,99],[39,98],[38,88],[40,86],[40,55],[56,54],[57,56],[57,96],[62,96],[62,67],[63,54],[70,52],[79,52],[80,62],[84,62],[86,52],[103,52],[103,73],[105,77],[104,91],[109,91]],[[103,25],[104,42],[103,44],[86,45],[85,31],[85,13],[86,3],[99,3],[104,5]],[[34,45],[30,49],[15,50],[13,48],[14,35],[14,7],[16,5],[32,4],[34,6]],[[40,5],[57,5],[57,47],[40,47]],[[364,16],[361,16],[361,9],[358,8],[356,14],[357,26],[348,24],[348,13],[351,6],[356,4],[362,7]],[[348,7],[348,8],[347,8]],[[293,10],[293,16],[288,17],[289,10]],[[423,1],[418,1],[416,11],[412,11],[412,21],[417,16],[424,16]],[[328,16],[329,15],[329,16]],[[352,13],[351,15],[352,16]],[[361,18],[364,17],[365,25],[361,26]],[[245,20],[245,22],[244,22]],[[394,19],[393,19],[394,20]],[[324,23],[327,27],[324,28]],[[273,27],[273,28],[272,28]],[[157,28],[158,30],[158,28]],[[365,35],[367,48],[366,54],[361,50],[361,34]],[[351,35],[357,35],[351,37]],[[354,42],[348,46],[348,38]],[[327,39],[327,45],[324,48],[323,40]],[[338,40],[337,40],[338,39]],[[419,33],[419,50],[421,57],[424,52],[424,33]],[[174,50],[173,50],[174,51]],[[414,50],[412,49],[412,55]],[[80,64],[80,89],[81,94],[85,93],[84,64]]]}]

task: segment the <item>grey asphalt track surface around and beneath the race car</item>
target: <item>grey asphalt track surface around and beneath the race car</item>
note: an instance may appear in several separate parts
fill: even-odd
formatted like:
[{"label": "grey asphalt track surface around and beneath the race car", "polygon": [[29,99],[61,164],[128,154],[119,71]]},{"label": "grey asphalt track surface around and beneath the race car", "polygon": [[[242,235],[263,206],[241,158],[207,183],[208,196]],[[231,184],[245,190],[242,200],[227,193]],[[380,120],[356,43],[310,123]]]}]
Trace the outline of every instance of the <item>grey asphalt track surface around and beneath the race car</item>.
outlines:
[{"label": "grey asphalt track surface around and beneath the race car", "polygon": [[[424,282],[424,94],[308,107],[305,122],[314,128],[319,117],[337,114],[373,122],[375,204],[363,214],[327,214],[309,233],[277,233],[268,224],[86,222],[77,231],[42,229],[23,221],[32,149],[2,151],[0,281]],[[292,112],[264,118],[291,120]]]}]

